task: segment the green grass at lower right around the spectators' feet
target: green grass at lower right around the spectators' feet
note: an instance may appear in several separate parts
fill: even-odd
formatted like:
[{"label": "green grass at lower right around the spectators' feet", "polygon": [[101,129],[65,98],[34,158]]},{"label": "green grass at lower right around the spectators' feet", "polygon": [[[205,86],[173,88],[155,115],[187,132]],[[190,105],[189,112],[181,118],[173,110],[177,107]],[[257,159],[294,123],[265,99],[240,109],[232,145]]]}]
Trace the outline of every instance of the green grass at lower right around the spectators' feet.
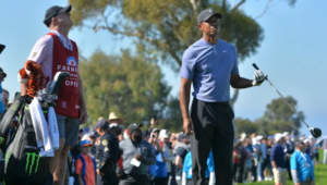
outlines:
[{"label": "green grass at lower right around the spectators' feet", "polygon": [[[319,152],[319,160],[323,161],[324,151],[320,150]],[[319,168],[315,168],[315,178],[316,185],[327,185],[327,164],[319,163]],[[287,182],[287,185],[294,184],[291,181]],[[247,185],[275,185],[274,181],[270,182],[257,182],[257,183],[247,183]]]}]

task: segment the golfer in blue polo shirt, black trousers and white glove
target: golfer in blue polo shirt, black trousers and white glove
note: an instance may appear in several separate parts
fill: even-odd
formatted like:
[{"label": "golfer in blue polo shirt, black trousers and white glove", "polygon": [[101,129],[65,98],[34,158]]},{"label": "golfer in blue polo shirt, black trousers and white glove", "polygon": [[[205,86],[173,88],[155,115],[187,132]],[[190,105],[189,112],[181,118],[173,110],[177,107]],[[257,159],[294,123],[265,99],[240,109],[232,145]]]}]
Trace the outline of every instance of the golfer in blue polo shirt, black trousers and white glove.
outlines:
[{"label": "golfer in blue polo shirt, black trousers and white glove", "polygon": [[[207,158],[213,149],[217,185],[232,184],[233,111],[229,106],[233,88],[259,86],[266,75],[255,71],[254,81],[240,77],[234,46],[218,38],[221,14],[211,9],[197,16],[203,37],[185,50],[181,69],[180,106],[184,132],[191,138],[192,174],[196,185],[205,184]],[[189,113],[191,84],[194,99]]]}]

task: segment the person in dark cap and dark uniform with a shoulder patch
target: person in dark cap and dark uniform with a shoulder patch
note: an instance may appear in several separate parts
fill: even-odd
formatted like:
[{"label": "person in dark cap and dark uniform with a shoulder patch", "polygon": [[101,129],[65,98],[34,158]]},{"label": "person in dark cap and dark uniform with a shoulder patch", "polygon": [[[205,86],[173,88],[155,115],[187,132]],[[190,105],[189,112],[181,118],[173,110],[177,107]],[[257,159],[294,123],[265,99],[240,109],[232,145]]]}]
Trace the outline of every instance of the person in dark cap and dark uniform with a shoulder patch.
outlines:
[{"label": "person in dark cap and dark uniform with a shoulder patch", "polygon": [[108,132],[109,123],[107,120],[99,120],[96,130],[100,137],[96,152],[97,174],[101,178],[98,180],[97,184],[117,185],[119,183],[116,175],[117,161],[120,158],[119,141]]}]

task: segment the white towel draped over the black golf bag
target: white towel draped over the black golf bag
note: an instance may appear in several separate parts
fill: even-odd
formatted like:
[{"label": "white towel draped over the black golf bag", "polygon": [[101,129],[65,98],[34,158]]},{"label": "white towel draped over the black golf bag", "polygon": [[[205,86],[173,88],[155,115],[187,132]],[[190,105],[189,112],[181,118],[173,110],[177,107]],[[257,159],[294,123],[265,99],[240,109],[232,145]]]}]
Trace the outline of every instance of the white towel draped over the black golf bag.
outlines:
[{"label": "white towel draped over the black golf bag", "polygon": [[35,130],[37,147],[41,148],[40,157],[53,157],[53,151],[59,149],[59,133],[53,108],[50,107],[48,111],[49,122],[46,121],[36,97],[29,104],[29,111]]}]

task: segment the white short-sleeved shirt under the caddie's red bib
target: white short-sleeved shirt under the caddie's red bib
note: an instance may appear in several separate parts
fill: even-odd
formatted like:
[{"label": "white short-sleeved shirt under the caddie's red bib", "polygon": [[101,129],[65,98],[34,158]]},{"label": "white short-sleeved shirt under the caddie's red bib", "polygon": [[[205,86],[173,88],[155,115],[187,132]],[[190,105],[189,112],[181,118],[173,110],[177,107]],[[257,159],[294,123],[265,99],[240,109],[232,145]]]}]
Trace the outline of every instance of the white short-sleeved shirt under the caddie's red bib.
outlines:
[{"label": "white short-sleeved shirt under the caddie's red bib", "polygon": [[[56,34],[61,44],[69,50],[73,51],[73,45],[70,39],[65,39],[59,32],[50,30]],[[27,60],[40,64],[41,70],[49,81],[52,81],[52,54],[53,54],[53,38],[50,35],[44,35],[34,45]]]}]

